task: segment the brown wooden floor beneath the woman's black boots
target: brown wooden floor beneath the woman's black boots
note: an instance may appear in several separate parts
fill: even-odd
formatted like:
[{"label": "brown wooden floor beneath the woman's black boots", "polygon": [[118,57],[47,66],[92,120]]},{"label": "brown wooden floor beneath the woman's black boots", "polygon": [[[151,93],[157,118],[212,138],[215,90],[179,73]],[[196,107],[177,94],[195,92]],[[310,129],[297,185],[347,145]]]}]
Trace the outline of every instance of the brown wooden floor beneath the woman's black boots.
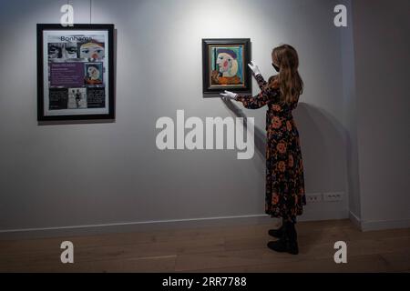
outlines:
[{"label": "brown wooden floor beneath the woman's black boots", "polygon": [[[0,272],[410,272],[410,229],[362,233],[348,220],[297,225],[300,255],[266,247],[273,225],[0,241]],[[62,241],[75,264],[60,262]],[[348,263],[333,261],[336,241]]]}]

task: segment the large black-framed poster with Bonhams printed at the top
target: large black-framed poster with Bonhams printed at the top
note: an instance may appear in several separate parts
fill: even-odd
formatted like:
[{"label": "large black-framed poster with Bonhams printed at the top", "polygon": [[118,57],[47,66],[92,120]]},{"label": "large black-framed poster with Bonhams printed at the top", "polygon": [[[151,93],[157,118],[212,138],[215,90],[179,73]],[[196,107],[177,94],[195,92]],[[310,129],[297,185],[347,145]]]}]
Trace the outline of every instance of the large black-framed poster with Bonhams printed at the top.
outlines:
[{"label": "large black-framed poster with Bonhams printed at the top", "polygon": [[114,25],[37,25],[38,121],[114,119]]}]

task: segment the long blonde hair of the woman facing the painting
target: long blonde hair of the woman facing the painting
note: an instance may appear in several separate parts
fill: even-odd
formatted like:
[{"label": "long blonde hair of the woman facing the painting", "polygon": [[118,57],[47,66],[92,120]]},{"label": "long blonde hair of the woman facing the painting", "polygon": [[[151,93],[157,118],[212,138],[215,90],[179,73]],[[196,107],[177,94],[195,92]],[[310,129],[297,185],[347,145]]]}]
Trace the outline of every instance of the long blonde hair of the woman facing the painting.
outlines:
[{"label": "long blonde hair of the woman facing the painting", "polygon": [[303,81],[298,72],[298,53],[292,45],[280,45],[273,49],[272,61],[280,67],[280,72],[270,79],[268,86],[281,89],[282,102],[298,102],[303,93]]}]

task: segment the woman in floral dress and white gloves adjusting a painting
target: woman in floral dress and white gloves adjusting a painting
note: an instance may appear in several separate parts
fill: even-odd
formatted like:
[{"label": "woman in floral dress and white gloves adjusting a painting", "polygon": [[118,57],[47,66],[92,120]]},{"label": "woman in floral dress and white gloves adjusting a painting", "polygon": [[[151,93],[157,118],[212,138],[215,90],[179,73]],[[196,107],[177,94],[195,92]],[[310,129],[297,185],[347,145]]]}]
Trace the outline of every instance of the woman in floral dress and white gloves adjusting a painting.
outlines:
[{"label": "woman in floral dress and white gloves adjusting a painting", "polygon": [[269,231],[269,235],[279,240],[269,242],[268,247],[277,252],[297,255],[296,216],[302,215],[303,206],[306,205],[302,151],[292,116],[303,91],[298,72],[299,57],[292,45],[275,47],[272,66],[279,74],[273,75],[269,82],[263,79],[258,65],[251,62],[249,66],[261,93],[251,96],[225,91],[221,96],[239,101],[250,109],[268,105],[265,213],[282,218],[281,228]]}]

